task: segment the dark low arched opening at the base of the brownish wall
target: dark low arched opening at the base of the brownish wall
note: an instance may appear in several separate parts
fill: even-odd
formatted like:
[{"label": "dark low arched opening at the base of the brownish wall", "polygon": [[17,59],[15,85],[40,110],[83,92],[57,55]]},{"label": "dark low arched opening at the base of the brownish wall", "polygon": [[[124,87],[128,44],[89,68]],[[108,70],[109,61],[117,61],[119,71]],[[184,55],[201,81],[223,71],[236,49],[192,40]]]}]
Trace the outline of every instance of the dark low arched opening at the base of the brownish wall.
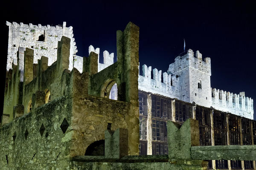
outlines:
[{"label": "dark low arched opening at the base of the brownish wall", "polygon": [[85,152],[85,156],[104,156],[105,154],[105,140],[99,140],[91,143]]}]

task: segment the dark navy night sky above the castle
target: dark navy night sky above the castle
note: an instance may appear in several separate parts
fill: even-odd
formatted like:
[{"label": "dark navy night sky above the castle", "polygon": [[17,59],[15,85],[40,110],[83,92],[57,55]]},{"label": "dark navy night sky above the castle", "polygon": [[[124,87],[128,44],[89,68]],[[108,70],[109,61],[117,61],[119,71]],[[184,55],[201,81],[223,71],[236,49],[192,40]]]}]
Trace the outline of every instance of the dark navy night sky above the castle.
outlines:
[{"label": "dark navy night sky above the castle", "polygon": [[113,52],[116,59],[116,30],[123,31],[131,21],[140,27],[140,65],[162,72],[183,52],[185,39],[186,50],[199,50],[203,58],[211,58],[212,88],[236,94],[245,91],[245,96],[254,99],[256,108],[254,5],[250,1],[205,2],[9,0],[2,3],[0,109],[3,110],[9,30],[6,20],[42,26],[62,25],[66,21],[67,27],[73,26],[77,55],[88,56],[88,47],[93,45],[100,48],[100,62],[105,50]]}]

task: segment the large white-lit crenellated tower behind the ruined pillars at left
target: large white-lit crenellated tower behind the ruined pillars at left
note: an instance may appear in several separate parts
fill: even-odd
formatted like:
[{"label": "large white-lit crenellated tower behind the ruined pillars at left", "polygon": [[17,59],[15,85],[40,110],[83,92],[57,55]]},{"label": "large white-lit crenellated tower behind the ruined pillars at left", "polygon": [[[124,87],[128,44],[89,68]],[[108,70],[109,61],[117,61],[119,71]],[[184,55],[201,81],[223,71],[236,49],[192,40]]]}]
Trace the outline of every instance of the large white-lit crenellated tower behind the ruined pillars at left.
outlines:
[{"label": "large white-lit crenellated tower behind the ruined pillars at left", "polygon": [[8,71],[12,68],[13,60],[17,59],[17,52],[19,47],[31,48],[34,50],[33,63],[37,63],[41,56],[49,58],[48,65],[51,65],[57,60],[57,46],[58,41],[62,36],[71,39],[70,42],[70,65],[69,69],[73,68],[73,54],[76,54],[77,47],[75,38],[73,38],[73,27],[66,27],[66,22],[62,26],[42,26],[41,24],[23,24],[10,23],[6,21],[9,26],[9,43],[8,43],[8,57],[7,67]]}]

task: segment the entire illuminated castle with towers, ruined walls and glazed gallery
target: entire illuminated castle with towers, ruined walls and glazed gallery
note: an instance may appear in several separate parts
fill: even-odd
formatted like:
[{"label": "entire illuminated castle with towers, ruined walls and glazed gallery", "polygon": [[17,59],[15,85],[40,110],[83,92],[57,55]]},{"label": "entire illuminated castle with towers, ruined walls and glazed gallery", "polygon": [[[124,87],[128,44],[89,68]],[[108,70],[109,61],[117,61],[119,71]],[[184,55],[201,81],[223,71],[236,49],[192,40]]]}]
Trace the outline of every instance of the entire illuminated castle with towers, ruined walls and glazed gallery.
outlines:
[{"label": "entire illuminated castle with towers, ruined walls and glazed gallery", "polygon": [[[203,59],[199,51],[194,54],[189,49],[176,57],[163,74],[142,65],[140,76],[139,28],[132,23],[124,32],[117,31],[115,63],[114,54],[108,51],[103,52],[104,63],[99,63],[100,49],[92,45],[89,57],[76,56],[72,27],[67,28],[65,22],[62,27],[15,22],[6,25],[9,44],[0,136],[8,140],[1,141],[6,153],[0,159],[2,165],[11,162],[8,166],[15,167],[17,161],[23,168],[31,169],[74,168],[79,163],[67,158],[99,153],[102,148],[95,148],[102,147],[104,139],[105,156],[110,156],[112,151],[108,148],[113,147],[106,143],[106,135],[108,141],[113,141],[113,134],[117,133],[122,146],[119,157],[139,153],[162,155],[154,157],[160,160],[154,166],[163,166],[163,156],[170,158],[172,154],[168,144],[172,140],[172,134],[167,132],[172,127],[169,121],[185,126],[184,122],[190,119],[198,121],[198,145],[256,143],[256,121],[251,120],[253,99],[245,97],[244,92],[233,94],[211,88],[211,61],[208,57]],[[193,129],[189,124],[190,127]],[[26,149],[19,151],[20,148]],[[46,154],[50,165],[39,163]],[[208,168],[256,169],[255,159],[209,159]],[[145,168],[152,166],[152,161],[143,161]],[[173,164],[176,166],[177,162]],[[205,168],[202,162],[191,168],[200,166]]]}]

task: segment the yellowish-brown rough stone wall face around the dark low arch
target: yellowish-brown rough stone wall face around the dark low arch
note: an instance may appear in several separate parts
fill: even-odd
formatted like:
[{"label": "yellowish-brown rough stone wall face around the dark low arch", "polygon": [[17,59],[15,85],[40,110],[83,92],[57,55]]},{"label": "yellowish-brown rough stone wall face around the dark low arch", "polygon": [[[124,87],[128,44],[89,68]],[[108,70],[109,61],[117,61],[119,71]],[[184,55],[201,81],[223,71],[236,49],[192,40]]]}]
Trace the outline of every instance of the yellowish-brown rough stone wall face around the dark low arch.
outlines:
[{"label": "yellowish-brown rough stone wall face around the dark low arch", "polygon": [[93,142],[105,139],[105,130],[111,124],[111,130],[128,128],[127,102],[93,96],[73,98],[72,128],[74,140],[71,146],[72,156],[84,155]]}]

